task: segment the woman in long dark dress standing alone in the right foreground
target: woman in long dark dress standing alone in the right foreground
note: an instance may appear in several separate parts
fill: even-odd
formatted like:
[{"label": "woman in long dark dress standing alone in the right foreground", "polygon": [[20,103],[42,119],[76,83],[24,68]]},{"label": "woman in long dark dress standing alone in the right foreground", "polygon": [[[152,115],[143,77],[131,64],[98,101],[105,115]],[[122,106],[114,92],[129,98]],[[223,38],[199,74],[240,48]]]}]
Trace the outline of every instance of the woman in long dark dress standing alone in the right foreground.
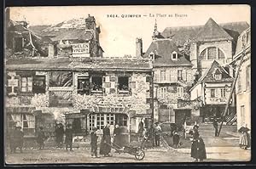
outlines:
[{"label": "woman in long dark dress standing alone in the right foreground", "polygon": [[203,161],[204,159],[207,159],[206,146],[203,139],[199,135],[198,128],[198,126],[193,127],[193,138],[191,139],[192,144],[190,155],[195,159],[195,161]]}]

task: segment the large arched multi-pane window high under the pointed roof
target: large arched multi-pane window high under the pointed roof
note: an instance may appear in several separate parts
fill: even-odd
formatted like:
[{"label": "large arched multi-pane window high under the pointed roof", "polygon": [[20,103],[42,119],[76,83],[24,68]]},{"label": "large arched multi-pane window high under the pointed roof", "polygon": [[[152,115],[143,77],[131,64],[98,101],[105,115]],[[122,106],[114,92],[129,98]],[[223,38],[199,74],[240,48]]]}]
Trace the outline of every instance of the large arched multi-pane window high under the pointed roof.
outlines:
[{"label": "large arched multi-pane window high under the pointed roof", "polygon": [[209,47],[204,49],[200,54],[201,59],[213,60],[213,59],[225,59],[224,53],[220,48]]}]

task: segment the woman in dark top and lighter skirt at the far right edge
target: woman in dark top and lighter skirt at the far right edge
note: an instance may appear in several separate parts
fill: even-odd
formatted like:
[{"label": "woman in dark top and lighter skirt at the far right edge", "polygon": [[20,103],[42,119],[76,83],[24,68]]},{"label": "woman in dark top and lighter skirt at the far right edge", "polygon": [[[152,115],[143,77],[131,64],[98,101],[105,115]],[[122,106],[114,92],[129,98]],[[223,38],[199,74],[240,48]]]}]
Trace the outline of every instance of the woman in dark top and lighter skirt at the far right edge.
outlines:
[{"label": "woman in dark top and lighter skirt at the far right edge", "polygon": [[243,149],[247,149],[248,147],[250,147],[250,136],[249,136],[249,131],[250,129],[247,128],[247,124],[243,125],[243,127],[241,127],[238,132],[240,132],[240,139],[239,139],[239,146]]}]

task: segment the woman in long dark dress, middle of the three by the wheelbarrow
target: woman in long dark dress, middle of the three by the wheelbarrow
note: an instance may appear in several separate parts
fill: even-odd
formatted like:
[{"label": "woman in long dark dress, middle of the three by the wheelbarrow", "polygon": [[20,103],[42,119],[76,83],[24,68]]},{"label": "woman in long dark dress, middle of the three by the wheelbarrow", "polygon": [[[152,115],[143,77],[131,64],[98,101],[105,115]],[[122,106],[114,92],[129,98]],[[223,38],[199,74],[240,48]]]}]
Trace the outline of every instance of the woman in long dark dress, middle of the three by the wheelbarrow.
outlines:
[{"label": "woman in long dark dress, middle of the three by the wheelbarrow", "polygon": [[109,123],[103,128],[103,135],[102,135],[102,141],[101,141],[101,147],[100,147],[100,155],[106,156],[112,156],[110,155],[111,151],[111,137],[110,137],[110,125]]}]

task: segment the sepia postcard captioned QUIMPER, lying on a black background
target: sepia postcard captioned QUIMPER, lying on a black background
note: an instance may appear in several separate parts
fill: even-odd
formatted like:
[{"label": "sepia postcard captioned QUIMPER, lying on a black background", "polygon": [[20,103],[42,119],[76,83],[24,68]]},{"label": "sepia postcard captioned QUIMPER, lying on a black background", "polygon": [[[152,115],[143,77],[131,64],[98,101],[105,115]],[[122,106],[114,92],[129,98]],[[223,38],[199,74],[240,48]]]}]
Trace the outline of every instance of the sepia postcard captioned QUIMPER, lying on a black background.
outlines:
[{"label": "sepia postcard captioned QUIMPER, lying on a black background", "polygon": [[5,8],[4,161],[251,161],[249,5]]}]

